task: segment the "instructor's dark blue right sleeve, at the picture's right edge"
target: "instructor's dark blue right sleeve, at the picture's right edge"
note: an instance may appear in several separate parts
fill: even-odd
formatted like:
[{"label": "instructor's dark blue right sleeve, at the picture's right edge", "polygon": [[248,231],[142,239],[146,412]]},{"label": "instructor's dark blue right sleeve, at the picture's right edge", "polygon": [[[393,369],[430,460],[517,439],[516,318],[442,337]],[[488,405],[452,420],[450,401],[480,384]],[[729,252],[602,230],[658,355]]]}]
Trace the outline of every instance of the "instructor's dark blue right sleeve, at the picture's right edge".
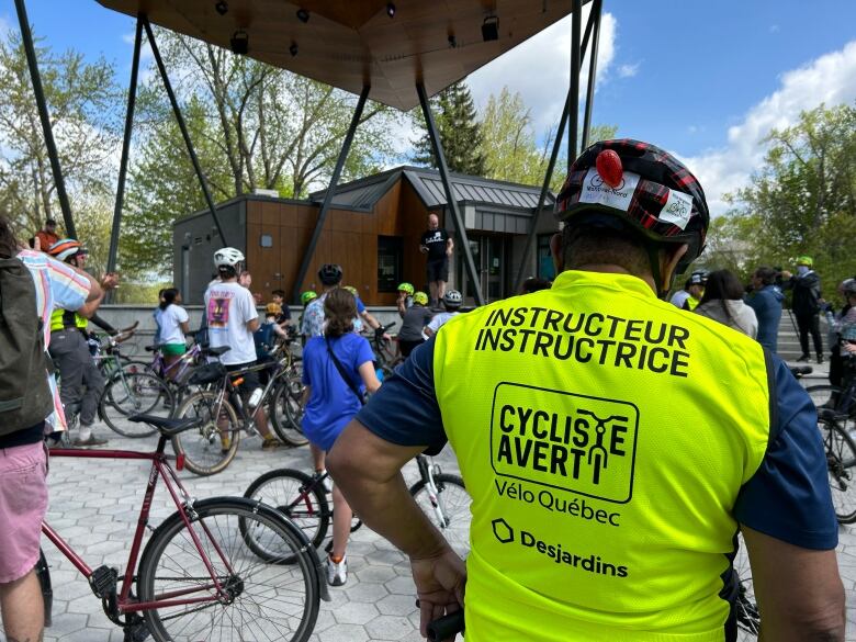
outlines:
[{"label": "instructor's dark blue right sleeve, at the picture's right edge", "polygon": [[803,549],[838,543],[838,525],[826,477],[826,454],[814,405],[788,367],[771,356],[775,438],[761,466],[741,488],[735,519]]}]

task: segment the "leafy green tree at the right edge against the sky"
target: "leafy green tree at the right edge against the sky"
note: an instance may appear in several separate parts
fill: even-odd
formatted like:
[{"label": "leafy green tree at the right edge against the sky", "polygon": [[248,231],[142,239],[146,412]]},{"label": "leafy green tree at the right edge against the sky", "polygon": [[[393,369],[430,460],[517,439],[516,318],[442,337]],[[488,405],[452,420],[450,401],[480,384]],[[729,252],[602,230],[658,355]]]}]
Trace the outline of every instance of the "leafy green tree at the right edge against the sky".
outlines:
[{"label": "leafy green tree at the right edge against the sky", "polygon": [[721,240],[744,244],[747,270],[810,255],[832,295],[856,273],[856,108],[820,105],[765,143],[764,166],[728,196],[732,221],[719,228]]}]

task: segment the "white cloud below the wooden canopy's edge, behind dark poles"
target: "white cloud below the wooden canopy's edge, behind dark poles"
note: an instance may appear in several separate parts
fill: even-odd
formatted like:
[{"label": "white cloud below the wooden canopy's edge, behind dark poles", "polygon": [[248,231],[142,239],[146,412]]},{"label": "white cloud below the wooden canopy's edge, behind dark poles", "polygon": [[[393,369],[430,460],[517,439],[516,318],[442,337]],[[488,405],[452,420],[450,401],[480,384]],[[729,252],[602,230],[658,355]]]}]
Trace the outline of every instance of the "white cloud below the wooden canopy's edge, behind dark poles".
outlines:
[{"label": "white cloud below the wooden canopy's edge, behind dark poles", "polygon": [[[583,8],[581,38],[585,34],[590,8],[590,3]],[[570,15],[560,20],[471,75],[468,83],[476,105],[484,108],[492,93],[499,93],[507,86],[511,92],[520,92],[531,109],[538,135],[555,126],[562,115],[571,79],[571,21]],[[598,85],[607,81],[612,71],[617,26],[616,18],[604,12],[597,50]],[[590,46],[588,48],[590,50]],[[587,81],[588,56],[583,61],[579,79],[583,98]]]}]

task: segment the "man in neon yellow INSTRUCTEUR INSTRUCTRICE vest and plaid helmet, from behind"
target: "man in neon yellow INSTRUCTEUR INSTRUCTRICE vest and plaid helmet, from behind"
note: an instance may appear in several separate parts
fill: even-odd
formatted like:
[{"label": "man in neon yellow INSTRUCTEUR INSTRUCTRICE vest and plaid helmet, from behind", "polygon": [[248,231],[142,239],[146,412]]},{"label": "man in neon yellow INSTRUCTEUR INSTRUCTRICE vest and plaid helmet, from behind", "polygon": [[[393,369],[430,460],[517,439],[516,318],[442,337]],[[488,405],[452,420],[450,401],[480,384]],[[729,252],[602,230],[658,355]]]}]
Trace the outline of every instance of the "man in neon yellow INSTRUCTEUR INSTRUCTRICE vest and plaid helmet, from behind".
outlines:
[{"label": "man in neon yellow INSTRUCTEUR INSTRUCTRICE vest and plaid helmet, from behind", "polygon": [[[464,605],[468,642],[731,641],[742,530],[763,639],[843,640],[810,398],[759,343],[660,299],[705,246],[696,178],[597,143],[556,216],[552,288],[450,320],[329,453],[354,513],[409,555],[423,632]],[[447,440],[472,496],[465,567],[399,472]]]}]

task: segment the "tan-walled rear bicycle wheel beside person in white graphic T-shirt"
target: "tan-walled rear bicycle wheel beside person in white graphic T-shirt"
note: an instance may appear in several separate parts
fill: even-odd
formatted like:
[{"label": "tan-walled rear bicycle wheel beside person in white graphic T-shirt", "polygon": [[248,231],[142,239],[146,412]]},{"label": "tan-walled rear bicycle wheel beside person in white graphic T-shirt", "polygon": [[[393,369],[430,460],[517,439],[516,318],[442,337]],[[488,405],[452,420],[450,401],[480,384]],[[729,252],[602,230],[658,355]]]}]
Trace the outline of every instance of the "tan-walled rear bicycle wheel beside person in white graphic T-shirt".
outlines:
[{"label": "tan-walled rear bicycle wheel beside person in white graphic T-shirt", "polygon": [[[176,455],[184,455],[184,466],[196,475],[213,475],[226,469],[235,459],[240,441],[238,415],[228,399],[223,399],[217,408],[219,391],[199,390],[184,398],[176,412],[176,418],[199,417],[202,424],[198,428],[185,430],[172,438]],[[228,425],[221,431],[217,419],[226,415]],[[228,449],[223,452],[222,437],[229,438]]]}]

